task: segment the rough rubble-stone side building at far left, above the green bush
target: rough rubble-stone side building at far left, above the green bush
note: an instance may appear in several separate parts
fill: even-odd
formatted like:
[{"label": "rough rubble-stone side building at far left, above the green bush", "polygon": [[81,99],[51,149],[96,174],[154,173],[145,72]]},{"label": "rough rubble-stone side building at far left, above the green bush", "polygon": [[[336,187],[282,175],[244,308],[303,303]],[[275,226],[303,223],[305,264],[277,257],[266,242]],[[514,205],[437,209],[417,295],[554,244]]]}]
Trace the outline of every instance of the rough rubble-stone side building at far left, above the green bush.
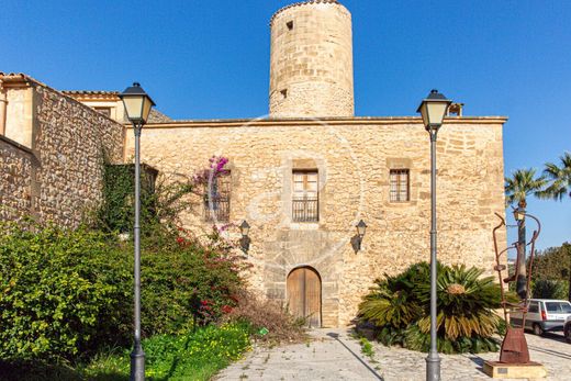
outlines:
[{"label": "rough rubble-stone side building at far left, above the green bush", "polygon": [[8,98],[0,198],[12,208],[2,216],[77,226],[101,199],[104,160],[123,161],[123,125],[24,75],[0,80]]}]

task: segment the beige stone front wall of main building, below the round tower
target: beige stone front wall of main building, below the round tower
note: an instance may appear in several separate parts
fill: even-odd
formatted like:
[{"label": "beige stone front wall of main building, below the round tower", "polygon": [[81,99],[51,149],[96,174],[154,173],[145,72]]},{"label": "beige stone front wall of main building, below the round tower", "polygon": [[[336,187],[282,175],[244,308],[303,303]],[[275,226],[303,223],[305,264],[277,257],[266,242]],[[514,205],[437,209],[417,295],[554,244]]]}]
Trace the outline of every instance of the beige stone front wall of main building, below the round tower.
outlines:
[{"label": "beige stone front wall of main building, below the round tower", "polygon": [[[504,213],[504,122],[448,119],[437,148],[439,259],[489,274],[494,212]],[[130,156],[132,132],[126,136]],[[429,138],[417,117],[189,122],[143,131],[143,160],[171,178],[192,176],[213,155],[231,159],[231,221],[251,225],[250,283],[287,301],[289,272],[313,267],[323,282],[325,326],[349,323],[376,278],[429,260]],[[293,223],[292,171],[309,167],[320,172],[320,222]],[[410,169],[410,202],[389,201],[392,168]],[[199,202],[182,214],[186,227],[210,229],[201,216]],[[356,253],[360,218],[369,227]]]}]

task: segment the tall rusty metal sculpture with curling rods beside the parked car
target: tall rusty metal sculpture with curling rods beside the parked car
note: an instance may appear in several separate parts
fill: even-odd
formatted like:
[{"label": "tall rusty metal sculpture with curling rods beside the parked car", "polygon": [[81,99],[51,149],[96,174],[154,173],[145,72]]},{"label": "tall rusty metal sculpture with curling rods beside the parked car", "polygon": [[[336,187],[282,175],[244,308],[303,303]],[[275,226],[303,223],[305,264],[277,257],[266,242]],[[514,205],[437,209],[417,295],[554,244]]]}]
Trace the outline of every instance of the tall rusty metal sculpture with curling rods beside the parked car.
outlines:
[{"label": "tall rusty metal sculpture with curling rods beside the parked car", "polygon": [[516,281],[519,273],[519,261],[526,260],[526,258],[522,258],[520,256],[517,257],[517,262],[515,265],[515,273],[511,277],[504,278],[502,276],[503,271],[507,271],[507,268],[505,265],[502,265],[502,256],[504,254],[507,254],[508,250],[515,249],[518,253],[520,253],[519,243],[515,243],[512,246],[506,247],[502,251],[497,248],[497,231],[502,226],[506,226],[505,220],[500,214],[495,213],[495,215],[501,220],[501,223],[494,228],[493,236],[494,236],[494,249],[495,249],[495,267],[494,270],[497,271],[497,278],[500,280],[500,292],[502,296],[502,307],[504,310],[504,318],[507,323],[507,309],[512,309],[515,311],[522,312],[522,326],[519,327],[512,327],[511,324],[507,324],[506,334],[504,337],[504,340],[502,343],[502,349],[500,351],[500,362],[501,363],[530,363],[529,360],[529,350],[527,348],[527,341],[525,339],[524,335],[524,327],[525,327],[525,320],[527,316],[527,302],[529,299],[529,282],[531,280],[531,268],[534,266],[534,257],[535,257],[535,243],[537,240],[537,237],[539,237],[539,233],[541,232],[541,224],[539,223],[539,220],[533,216],[531,214],[525,214],[526,217],[530,217],[537,223],[537,231],[534,231],[534,234],[531,236],[531,239],[529,243],[524,243],[524,245],[529,246],[530,245],[530,253],[529,253],[529,260],[527,264],[527,283],[526,283],[526,294],[525,298],[519,301],[518,303],[512,303],[506,298],[506,292],[504,291],[504,283],[510,283],[513,281]]}]

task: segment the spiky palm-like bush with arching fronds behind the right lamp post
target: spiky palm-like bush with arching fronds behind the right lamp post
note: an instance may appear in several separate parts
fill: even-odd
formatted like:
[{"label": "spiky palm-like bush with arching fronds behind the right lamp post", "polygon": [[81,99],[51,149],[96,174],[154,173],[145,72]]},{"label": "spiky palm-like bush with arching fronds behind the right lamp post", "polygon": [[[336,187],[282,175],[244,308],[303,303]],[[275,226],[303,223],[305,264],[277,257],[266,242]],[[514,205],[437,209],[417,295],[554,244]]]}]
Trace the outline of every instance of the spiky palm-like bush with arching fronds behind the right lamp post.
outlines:
[{"label": "spiky palm-like bush with arching fronds behind the right lamp post", "polygon": [[[481,270],[438,265],[438,347],[443,352],[497,350],[491,337],[501,329],[500,287]],[[384,345],[427,351],[430,277],[428,264],[416,264],[395,277],[378,280],[359,305],[361,321],[373,323]]]}]

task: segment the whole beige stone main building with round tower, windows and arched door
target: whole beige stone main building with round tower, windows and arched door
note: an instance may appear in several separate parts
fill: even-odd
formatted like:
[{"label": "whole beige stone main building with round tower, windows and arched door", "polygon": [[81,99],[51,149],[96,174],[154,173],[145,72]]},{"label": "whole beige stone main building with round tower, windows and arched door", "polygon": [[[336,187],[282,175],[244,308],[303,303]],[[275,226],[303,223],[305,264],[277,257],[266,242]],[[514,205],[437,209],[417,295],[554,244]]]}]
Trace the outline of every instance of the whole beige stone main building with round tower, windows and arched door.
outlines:
[{"label": "whole beige stone main building with round tower, windows and arched door", "polygon": [[[269,117],[150,121],[142,158],[176,178],[227,157],[229,175],[213,187],[219,197],[183,213],[184,227],[247,221],[251,287],[312,325],[345,325],[376,278],[429,259],[428,134],[417,116],[354,115],[351,15],[343,4],[292,4],[270,29]],[[94,108],[115,104],[104,112],[123,122],[116,93],[67,96]],[[506,119],[464,116],[461,103],[455,112],[437,147],[438,256],[491,273],[494,212],[504,213]],[[128,160],[133,131],[125,130]],[[368,228],[359,247],[360,220]]]}]

